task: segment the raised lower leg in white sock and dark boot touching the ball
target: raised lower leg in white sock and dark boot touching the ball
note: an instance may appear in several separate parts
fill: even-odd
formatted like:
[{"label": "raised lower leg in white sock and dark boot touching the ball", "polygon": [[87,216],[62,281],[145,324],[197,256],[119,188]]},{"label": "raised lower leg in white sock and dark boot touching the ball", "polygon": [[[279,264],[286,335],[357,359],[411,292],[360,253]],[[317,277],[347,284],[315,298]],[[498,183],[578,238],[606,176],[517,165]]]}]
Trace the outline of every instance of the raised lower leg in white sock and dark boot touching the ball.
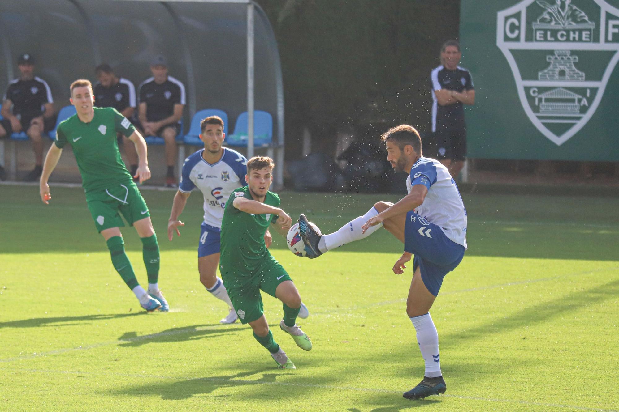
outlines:
[{"label": "raised lower leg in white sock and dark boot touching the ball", "polygon": [[[384,202],[380,202],[380,204],[386,205]],[[349,221],[337,232],[324,234],[321,236],[316,230],[314,230],[313,227],[311,227],[311,225],[308,224],[308,220],[305,215],[301,214],[299,217],[299,233],[301,234],[301,239],[303,239],[303,242],[305,243],[307,256],[309,259],[314,259],[324,252],[337,249],[337,247],[343,246],[344,244],[367,238],[370,234],[383,227],[383,224],[381,223],[379,225],[372,226],[366,230],[365,233],[363,233],[362,227],[364,223],[376,215],[378,215],[378,210],[376,210],[375,205],[373,208],[368,210],[365,215]]]}]

